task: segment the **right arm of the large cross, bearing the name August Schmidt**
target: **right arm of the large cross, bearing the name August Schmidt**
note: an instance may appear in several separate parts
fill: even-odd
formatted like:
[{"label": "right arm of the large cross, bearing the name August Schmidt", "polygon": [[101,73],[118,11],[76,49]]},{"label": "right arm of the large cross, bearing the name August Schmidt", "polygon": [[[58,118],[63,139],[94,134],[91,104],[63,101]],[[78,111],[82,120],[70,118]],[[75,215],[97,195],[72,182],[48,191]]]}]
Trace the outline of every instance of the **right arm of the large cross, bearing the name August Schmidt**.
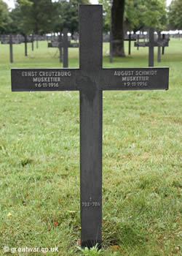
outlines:
[{"label": "right arm of the large cross, bearing the name August Schmidt", "polygon": [[103,69],[101,90],[157,90],[169,88],[169,68]]}]

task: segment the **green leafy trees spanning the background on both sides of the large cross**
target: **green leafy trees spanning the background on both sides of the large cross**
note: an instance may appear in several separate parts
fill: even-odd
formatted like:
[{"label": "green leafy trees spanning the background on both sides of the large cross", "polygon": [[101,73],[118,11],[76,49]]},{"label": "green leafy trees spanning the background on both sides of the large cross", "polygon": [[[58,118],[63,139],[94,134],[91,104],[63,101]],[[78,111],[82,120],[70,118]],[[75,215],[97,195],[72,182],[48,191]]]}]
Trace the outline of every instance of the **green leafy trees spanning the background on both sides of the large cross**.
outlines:
[{"label": "green leafy trees spanning the background on both sides of the large cross", "polygon": [[[124,31],[135,32],[150,26],[160,30],[167,26],[182,29],[182,0],[173,0],[168,10],[165,0],[99,0],[99,3],[103,4],[104,31],[111,28],[111,4],[116,7],[113,17],[117,17],[120,28],[123,23]],[[7,4],[0,0],[0,33],[47,34],[68,28],[74,34],[79,30],[78,4],[90,4],[90,1],[17,0],[15,9],[9,11]]]}]

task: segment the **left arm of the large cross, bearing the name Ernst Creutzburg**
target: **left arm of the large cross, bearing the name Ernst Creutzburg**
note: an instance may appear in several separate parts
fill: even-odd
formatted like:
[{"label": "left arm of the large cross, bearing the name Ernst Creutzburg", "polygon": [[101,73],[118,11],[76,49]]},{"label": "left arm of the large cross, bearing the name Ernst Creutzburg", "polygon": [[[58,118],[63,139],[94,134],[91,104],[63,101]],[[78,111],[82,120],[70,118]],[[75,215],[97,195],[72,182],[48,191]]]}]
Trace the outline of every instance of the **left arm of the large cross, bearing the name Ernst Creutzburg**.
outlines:
[{"label": "left arm of the large cross, bearing the name Ernst Creutzburg", "polygon": [[12,69],[12,91],[77,91],[79,69]]}]

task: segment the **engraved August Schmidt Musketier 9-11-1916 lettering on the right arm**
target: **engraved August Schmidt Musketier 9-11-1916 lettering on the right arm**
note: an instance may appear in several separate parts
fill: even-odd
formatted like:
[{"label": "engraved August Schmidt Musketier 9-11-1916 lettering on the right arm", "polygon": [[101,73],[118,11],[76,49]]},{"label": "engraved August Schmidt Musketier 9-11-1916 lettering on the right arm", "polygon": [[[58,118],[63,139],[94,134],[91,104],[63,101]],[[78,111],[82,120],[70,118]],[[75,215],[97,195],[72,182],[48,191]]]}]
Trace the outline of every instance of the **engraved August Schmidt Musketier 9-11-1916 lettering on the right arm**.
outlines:
[{"label": "engraved August Schmidt Musketier 9-11-1916 lettering on the right arm", "polygon": [[157,75],[157,70],[117,70],[114,76],[121,76],[124,86],[148,86],[150,77]]}]

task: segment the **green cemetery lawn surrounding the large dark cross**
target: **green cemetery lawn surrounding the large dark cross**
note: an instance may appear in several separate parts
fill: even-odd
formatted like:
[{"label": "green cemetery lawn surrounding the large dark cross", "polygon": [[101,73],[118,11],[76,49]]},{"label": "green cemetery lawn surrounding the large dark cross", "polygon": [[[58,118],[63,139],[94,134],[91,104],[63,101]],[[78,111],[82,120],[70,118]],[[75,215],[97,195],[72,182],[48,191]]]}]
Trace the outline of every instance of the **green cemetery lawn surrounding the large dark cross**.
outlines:
[{"label": "green cemetery lawn surrounding the large dark cross", "polygon": [[[132,43],[132,55],[112,64],[107,50],[103,67],[148,67],[148,48]],[[79,67],[78,49],[68,52],[68,67]],[[10,68],[60,67],[47,42],[33,52],[28,44],[28,57],[23,44],[13,53],[9,64],[0,45],[1,255],[4,246],[87,255],[77,249],[79,92],[12,93]],[[170,67],[168,91],[103,91],[103,247],[89,255],[181,254],[181,40],[170,40],[161,63],[155,49],[154,63]]]}]

